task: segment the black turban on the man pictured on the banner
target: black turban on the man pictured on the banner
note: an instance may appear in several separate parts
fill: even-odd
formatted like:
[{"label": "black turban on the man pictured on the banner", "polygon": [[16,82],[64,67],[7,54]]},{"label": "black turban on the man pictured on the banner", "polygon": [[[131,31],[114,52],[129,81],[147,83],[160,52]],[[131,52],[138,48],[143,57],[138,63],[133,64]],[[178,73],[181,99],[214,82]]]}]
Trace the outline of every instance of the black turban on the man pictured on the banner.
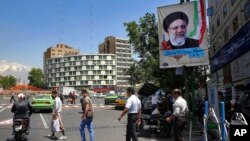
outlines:
[{"label": "black turban on the man pictured on the banner", "polygon": [[188,24],[188,16],[185,13],[178,11],[178,12],[173,12],[165,17],[165,19],[163,20],[163,29],[166,32],[168,32],[169,25],[173,21],[178,19],[182,19],[186,22],[186,24]]}]

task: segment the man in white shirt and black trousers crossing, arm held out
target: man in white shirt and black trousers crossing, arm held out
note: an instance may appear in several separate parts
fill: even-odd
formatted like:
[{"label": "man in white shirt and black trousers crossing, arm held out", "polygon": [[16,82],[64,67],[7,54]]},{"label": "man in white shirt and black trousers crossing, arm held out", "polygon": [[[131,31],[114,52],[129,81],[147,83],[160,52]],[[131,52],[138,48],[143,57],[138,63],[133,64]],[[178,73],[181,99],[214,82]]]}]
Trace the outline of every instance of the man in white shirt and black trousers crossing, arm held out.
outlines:
[{"label": "man in white shirt and black trousers crossing, arm held out", "polygon": [[141,101],[135,96],[135,90],[133,87],[127,88],[127,96],[129,97],[125,105],[124,110],[118,117],[118,121],[121,121],[122,117],[128,113],[127,119],[127,131],[126,131],[126,141],[138,141],[136,134],[136,124],[140,124],[141,116]]}]

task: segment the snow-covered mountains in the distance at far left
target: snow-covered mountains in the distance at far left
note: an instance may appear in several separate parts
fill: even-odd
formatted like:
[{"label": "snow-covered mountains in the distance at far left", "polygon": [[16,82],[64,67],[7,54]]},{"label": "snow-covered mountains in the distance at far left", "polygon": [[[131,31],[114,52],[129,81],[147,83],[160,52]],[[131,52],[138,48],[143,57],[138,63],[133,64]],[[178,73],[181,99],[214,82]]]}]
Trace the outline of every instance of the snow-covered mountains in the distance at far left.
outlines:
[{"label": "snow-covered mountains in the distance at far left", "polygon": [[19,79],[21,84],[27,84],[28,82],[28,74],[31,70],[31,67],[0,60],[0,75],[7,76],[12,75],[15,78]]}]

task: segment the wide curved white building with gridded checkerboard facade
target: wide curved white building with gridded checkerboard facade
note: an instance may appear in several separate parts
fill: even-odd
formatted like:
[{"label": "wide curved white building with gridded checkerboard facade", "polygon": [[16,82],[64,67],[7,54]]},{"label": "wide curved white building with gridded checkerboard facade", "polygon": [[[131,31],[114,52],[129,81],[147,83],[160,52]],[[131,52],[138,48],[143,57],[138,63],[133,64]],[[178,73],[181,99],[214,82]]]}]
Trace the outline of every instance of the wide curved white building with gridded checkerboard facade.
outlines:
[{"label": "wide curved white building with gridded checkerboard facade", "polygon": [[116,87],[116,56],[114,54],[71,55],[46,59],[48,87],[81,88]]}]

